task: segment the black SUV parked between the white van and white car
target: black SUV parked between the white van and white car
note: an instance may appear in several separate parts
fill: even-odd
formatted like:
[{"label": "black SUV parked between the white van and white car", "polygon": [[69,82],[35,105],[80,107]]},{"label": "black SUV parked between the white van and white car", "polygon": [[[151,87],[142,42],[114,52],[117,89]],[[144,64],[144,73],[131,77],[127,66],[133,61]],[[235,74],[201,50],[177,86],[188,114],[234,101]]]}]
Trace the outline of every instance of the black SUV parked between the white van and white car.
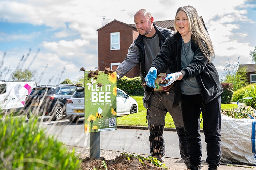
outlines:
[{"label": "black SUV parked between the white van and white car", "polygon": [[52,116],[51,120],[61,120],[65,113],[67,100],[75,92],[76,86],[69,84],[42,85],[34,87],[25,100],[27,117],[30,114]]}]

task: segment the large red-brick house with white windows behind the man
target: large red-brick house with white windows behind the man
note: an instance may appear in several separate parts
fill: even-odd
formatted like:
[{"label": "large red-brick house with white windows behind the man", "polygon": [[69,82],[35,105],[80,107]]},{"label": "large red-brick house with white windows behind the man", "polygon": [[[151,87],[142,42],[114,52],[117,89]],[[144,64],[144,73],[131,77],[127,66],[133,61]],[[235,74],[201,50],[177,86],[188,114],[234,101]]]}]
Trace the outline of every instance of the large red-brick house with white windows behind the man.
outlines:
[{"label": "large red-brick house with white windows behind the man", "polygon": [[[204,24],[203,18],[200,18]],[[174,20],[156,21],[154,23],[156,26],[174,30]],[[128,48],[139,35],[135,24],[126,24],[113,20],[112,22],[99,28],[97,31],[99,71],[104,71],[105,67],[115,70],[126,58]],[[126,74],[126,76],[129,78],[139,75],[139,64],[137,64],[128,74]]]}]

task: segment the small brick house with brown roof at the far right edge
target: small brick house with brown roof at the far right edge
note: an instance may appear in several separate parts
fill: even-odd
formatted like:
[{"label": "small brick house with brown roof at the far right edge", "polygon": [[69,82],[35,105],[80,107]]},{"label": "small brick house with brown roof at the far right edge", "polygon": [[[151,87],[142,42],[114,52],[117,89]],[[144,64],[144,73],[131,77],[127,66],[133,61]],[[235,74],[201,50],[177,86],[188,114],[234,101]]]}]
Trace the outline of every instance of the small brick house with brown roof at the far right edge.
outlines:
[{"label": "small brick house with brown roof at the far right edge", "polygon": [[247,82],[256,83],[256,64],[240,64],[237,71],[245,69]]}]

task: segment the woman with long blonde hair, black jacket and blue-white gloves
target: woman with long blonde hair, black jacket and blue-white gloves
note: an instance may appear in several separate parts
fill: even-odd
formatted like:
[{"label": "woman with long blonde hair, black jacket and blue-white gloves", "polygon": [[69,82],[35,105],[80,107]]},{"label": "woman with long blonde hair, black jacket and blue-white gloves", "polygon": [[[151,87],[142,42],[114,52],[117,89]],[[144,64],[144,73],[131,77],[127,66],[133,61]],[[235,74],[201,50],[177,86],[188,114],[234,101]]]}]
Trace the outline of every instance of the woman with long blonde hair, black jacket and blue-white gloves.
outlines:
[{"label": "woman with long blonde hair, black jacket and blue-white gloves", "polygon": [[[181,102],[190,170],[201,170],[202,144],[200,114],[207,148],[208,170],[217,170],[221,158],[221,94],[218,72],[212,61],[215,57],[210,36],[193,6],[178,8],[175,16],[175,34],[169,35],[155,57],[151,69],[157,73],[172,65],[161,86],[174,82],[174,105]],[[151,71],[145,78],[152,87],[155,77]],[[168,83],[166,83],[168,82]]]}]

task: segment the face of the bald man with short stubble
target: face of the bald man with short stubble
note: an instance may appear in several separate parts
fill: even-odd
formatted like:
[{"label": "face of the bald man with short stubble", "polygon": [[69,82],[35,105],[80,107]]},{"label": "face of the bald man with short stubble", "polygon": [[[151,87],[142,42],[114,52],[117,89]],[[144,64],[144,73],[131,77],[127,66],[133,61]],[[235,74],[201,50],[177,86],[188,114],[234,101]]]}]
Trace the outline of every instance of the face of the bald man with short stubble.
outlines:
[{"label": "face of the bald man with short stubble", "polygon": [[151,31],[153,23],[151,23],[151,18],[140,13],[134,16],[134,23],[141,35],[147,35]]}]

